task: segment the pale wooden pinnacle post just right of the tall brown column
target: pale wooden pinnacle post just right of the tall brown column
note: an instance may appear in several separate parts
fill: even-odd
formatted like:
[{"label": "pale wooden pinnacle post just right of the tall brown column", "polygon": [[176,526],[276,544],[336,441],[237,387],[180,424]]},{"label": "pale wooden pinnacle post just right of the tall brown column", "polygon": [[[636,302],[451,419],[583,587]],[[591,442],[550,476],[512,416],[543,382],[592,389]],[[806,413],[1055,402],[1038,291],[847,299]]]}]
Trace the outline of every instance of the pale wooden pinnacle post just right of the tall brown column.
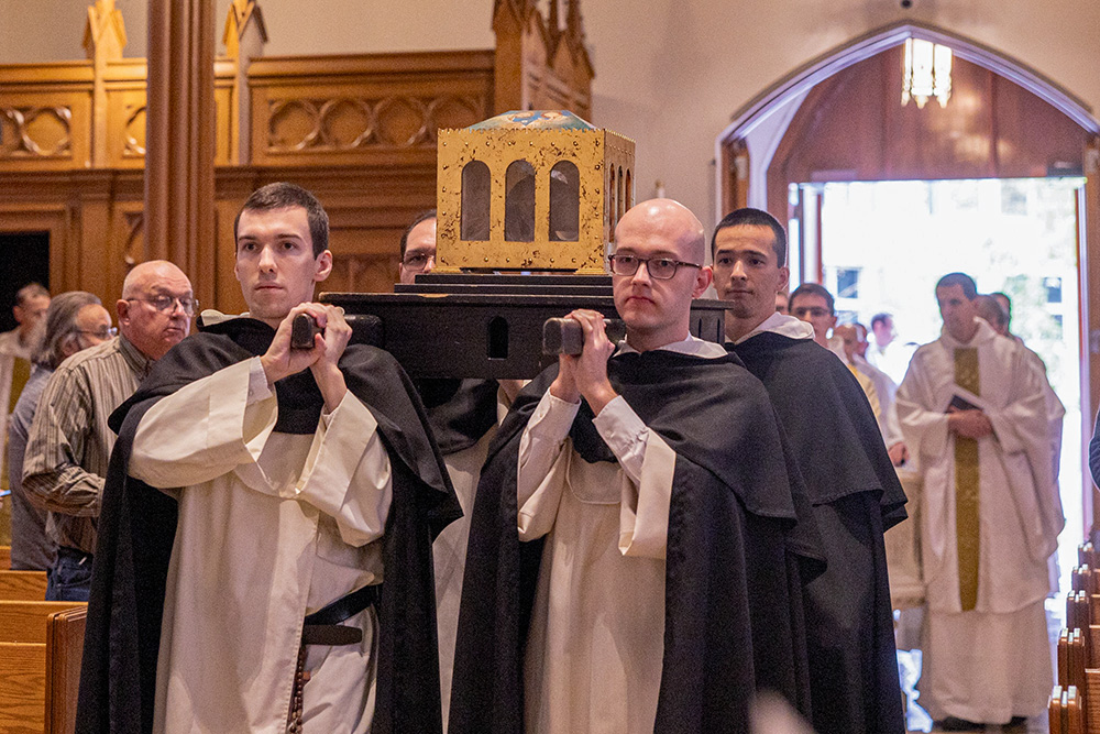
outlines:
[{"label": "pale wooden pinnacle post just right of the tall brown column", "polygon": [[264,15],[256,0],[232,0],[226,18],[222,35],[226,55],[233,59],[237,74],[233,77],[233,106],[237,114],[231,116],[233,130],[230,142],[230,158],[235,164],[252,162],[252,99],[249,95],[249,65],[253,58],[263,55],[267,43]]}]

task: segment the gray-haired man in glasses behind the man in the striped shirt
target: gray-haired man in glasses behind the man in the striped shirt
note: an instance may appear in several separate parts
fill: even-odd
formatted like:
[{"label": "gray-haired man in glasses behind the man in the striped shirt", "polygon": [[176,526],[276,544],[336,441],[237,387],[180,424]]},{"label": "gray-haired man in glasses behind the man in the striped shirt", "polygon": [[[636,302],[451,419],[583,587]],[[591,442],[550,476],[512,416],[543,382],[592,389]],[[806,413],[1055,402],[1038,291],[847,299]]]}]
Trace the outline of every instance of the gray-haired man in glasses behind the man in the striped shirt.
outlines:
[{"label": "gray-haired man in glasses behind the man in the striped shirt", "polygon": [[57,556],[56,545],[46,536],[46,513],[31,504],[23,493],[23,453],[42,391],[64,360],[113,336],[111,315],[100,304],[99,296],[72,291],[50,303],[42,342],[33,355],[34,370],[8,427],[12,570],[48,571]]}]

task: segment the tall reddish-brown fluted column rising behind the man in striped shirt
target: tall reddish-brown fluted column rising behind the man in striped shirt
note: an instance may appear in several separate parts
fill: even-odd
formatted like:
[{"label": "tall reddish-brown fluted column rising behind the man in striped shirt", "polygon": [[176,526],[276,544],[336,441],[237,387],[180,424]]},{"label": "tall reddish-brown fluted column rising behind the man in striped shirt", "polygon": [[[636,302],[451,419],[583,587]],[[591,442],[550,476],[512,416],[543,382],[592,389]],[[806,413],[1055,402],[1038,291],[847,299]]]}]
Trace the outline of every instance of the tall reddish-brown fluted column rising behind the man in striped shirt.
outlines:
[{"label": "tall reddish-brown fluted column rising behind the man in striped shirt", "polygon": [[150,0],[145,256],[213,303],[213,0]]}]

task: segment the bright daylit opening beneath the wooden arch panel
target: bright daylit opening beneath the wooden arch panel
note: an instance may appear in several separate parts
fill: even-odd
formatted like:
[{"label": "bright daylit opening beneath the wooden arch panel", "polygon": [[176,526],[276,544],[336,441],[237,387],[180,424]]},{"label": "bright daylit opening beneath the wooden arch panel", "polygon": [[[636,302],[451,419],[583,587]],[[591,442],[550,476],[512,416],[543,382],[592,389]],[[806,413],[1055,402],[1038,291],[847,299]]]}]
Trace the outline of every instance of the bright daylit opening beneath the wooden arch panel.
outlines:
[{"label": "bright daylit opening beneath the wooden arch panel", "polygon": [[[1066,529],[1059,538],[1060,588],[1069,588],[1087,525],[1081,502],[1080,293],[1077,202],[1080,176],[959,180],[836,182],[794,185],[821,222],[803,242],[821,253],[820,280],[836,297],[837,324],[868,328],[892,317],[908,357],[939,337],[934,292],[964,272],[978,292],[1003,293],[1010,330],[1035,350],[1066,407],[1059,483]],[[809,232],[807,232],[809,230]],[[813,237],[815,242],[807,242]],[[875,336],[869,336],[875,340]],[[881,366],[900,383],[908,360]],[[1088,436],[1085,436],[1085,441]]]}]

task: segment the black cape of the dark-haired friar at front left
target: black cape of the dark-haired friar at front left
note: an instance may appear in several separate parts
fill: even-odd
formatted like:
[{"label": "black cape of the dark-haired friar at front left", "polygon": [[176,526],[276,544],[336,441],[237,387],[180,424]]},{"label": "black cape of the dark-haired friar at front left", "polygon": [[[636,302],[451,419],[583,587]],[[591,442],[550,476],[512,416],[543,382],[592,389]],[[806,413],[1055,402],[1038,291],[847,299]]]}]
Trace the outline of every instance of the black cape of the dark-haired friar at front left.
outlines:
[{"label": "black cape of the dark-haired friar at front left", "polygon": [[[265,324],[237,318],[204,329],[154,365],[111,416],[111,454],[99,518],[76,731],[152,731],[156,659],[177,506],[127,475],[138,424],[161,397],[262,354]],[[427,428],[420,399],[387,352],[351,344],[340,360],[348,388],[378,421],[389,454],[393,503],[383,540],[386,583],[378,605],[380,651],[374,732],[439,732],[439,661],[431,540],[461,511]],[[323,401],[309,370],[279,381],[276,431],[311,434]],[[216,661],[212,661],[216,664]]]}]

